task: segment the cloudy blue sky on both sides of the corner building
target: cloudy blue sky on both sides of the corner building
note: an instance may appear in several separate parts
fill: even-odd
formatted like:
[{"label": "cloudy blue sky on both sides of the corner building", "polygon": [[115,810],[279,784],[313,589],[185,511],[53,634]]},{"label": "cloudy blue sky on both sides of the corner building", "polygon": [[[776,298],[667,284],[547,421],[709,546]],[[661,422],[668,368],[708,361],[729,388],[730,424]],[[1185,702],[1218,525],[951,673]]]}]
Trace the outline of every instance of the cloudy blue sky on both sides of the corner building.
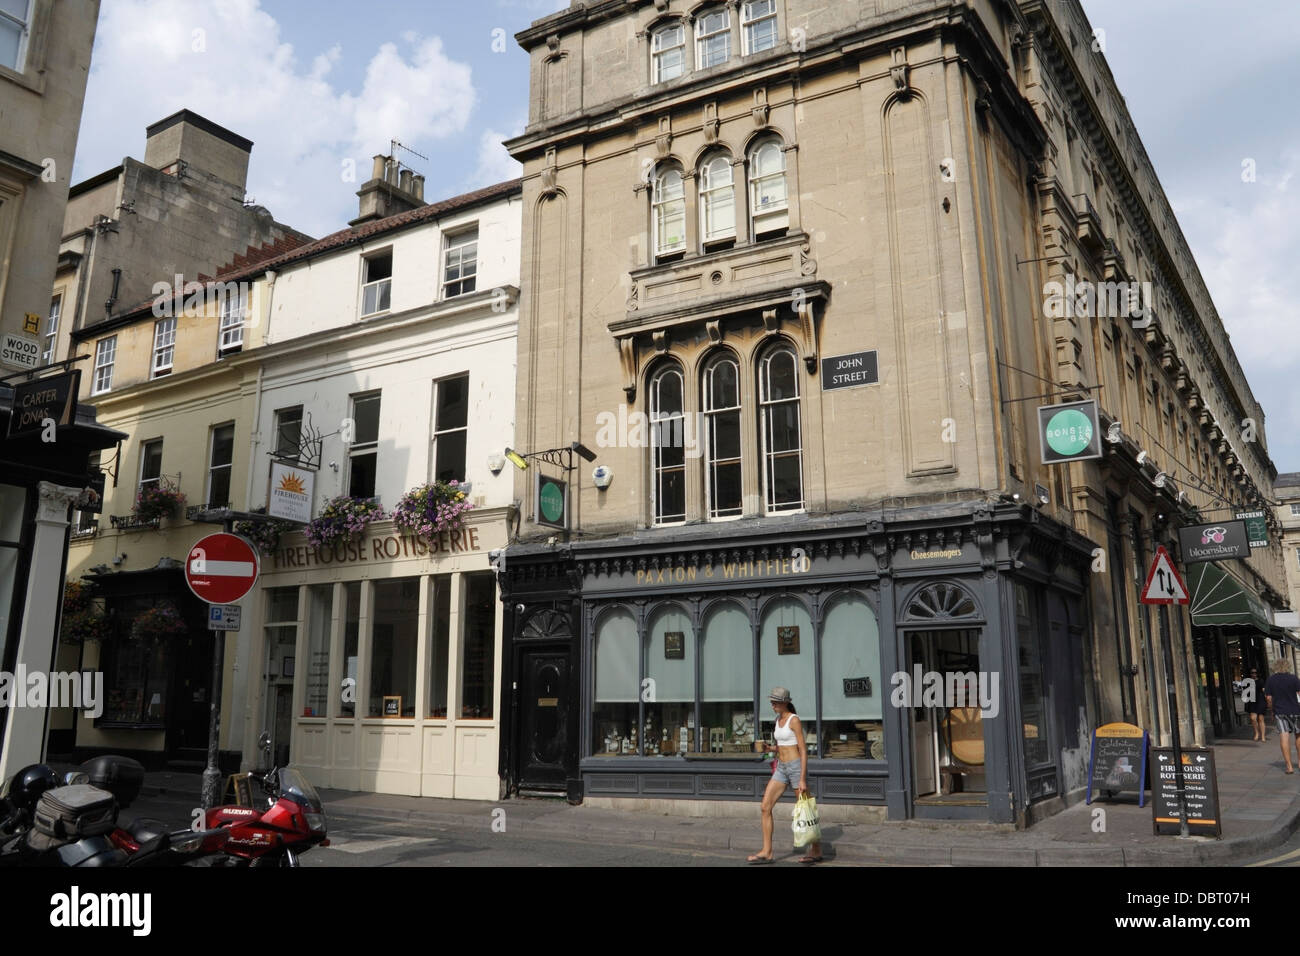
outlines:
[{"label": "cloudy blue sky on both sides of the corner building", "polygon": [[[188,108],[254,140],[248,194],[312,235],[356,215],[398,139],[425,198],[519,174],[528,57],[514,35],[568,0],[104,0],[73,182],[142,157]],[[1083,0],[1119,90],[1264,406],[1300,471],[1300,4]],[[147,82],[142,82],[142,77]],[[1247,165],[1248,164],[1248,165]],[[1244,173],[1253,169],[1253,177]]]}]

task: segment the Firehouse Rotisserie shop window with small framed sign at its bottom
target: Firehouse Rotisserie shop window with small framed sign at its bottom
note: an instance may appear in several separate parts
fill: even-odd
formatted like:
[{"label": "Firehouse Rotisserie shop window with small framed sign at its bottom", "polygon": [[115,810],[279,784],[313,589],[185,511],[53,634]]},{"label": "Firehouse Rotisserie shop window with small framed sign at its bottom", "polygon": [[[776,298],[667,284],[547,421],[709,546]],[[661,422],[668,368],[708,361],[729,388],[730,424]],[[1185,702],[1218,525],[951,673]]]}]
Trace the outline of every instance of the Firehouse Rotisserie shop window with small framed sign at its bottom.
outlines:
[{"label": "Firehouse Rotisserie shop window with small framed sign at its bottom", "polygon": [[374,581],[373,587],[369,715],[415,717],[420,579],[395,578]]}]

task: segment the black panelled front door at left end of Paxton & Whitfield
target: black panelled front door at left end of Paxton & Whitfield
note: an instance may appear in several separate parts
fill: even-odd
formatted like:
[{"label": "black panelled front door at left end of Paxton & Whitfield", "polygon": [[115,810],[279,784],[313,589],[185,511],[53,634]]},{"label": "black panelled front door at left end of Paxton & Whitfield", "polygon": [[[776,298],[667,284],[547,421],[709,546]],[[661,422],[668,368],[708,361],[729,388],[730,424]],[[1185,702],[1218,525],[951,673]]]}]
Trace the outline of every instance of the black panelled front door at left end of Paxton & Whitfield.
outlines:
[{"label": "black panelled front door at left end of Paxton & Whitfield", "polygon": [[569,750],[569,658],[567,650],[520,652],[519,737],[520,790],[563,791]]}]

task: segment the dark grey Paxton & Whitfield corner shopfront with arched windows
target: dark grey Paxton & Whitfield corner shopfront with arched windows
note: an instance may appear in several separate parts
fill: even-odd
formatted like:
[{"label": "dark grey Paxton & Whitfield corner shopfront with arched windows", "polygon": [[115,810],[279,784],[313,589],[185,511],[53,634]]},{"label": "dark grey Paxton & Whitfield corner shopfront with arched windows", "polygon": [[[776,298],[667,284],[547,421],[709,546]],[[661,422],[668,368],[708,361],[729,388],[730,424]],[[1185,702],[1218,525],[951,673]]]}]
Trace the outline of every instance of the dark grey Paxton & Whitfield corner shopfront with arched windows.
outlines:
[{"label": "dark grey Paxton & Whitfield corner shopfront with arched windows", "polygon": [[512,545],[510,787],[757,801],[780,685],[820,803],[1023,825],[1086,778],[1091,551],[984,502]]}]

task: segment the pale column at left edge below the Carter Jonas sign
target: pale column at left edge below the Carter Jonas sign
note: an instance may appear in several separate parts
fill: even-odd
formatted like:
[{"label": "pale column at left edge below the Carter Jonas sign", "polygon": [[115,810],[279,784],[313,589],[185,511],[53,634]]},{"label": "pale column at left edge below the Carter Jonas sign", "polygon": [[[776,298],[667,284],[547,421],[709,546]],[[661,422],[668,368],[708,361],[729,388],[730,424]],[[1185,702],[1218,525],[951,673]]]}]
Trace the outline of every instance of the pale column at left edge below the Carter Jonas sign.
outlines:
[{"label": "pale column at left edge below the Carter Jonas sign", "polygon": [[[68,551],[68,510],[81,496],[79,488],[42,481],[27,571],[27,594],[22,605],[17,674],[48,674],[55,661],[56,627],[62,601],[64,557]],[[26,685],[13,687],[14,697]],[[23,702],[26,698],[23,697]],[[4,741],[0,744],[0,780],[8,780],[29,763],[46,756],[46,726],[49,708],[13,706],[10,700]]]}]

